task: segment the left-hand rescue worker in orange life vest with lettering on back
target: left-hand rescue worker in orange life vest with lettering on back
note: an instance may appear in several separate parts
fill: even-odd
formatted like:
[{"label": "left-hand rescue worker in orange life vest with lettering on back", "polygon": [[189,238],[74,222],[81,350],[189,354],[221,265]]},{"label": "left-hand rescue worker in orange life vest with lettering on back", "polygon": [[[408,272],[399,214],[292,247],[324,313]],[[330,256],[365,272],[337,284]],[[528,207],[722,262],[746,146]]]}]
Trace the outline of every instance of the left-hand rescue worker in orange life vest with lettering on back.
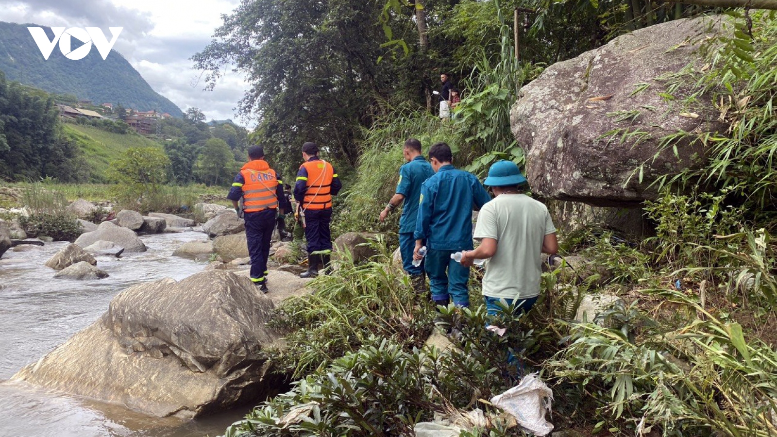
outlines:
[{"label": "left-hand rescue worker in orange life vest with lettering on back", "polygon": [[264,160],[264,149],[253,145],[248,149],[250,161],[235,176],[227,198],[240,215],[238,201],[243,199],[242,212],[246,220],[246,239],[251,257],[251,281],[267,292],[267,257],[270,239],[275,229],[278,199],[284,195],[283,181]]}]

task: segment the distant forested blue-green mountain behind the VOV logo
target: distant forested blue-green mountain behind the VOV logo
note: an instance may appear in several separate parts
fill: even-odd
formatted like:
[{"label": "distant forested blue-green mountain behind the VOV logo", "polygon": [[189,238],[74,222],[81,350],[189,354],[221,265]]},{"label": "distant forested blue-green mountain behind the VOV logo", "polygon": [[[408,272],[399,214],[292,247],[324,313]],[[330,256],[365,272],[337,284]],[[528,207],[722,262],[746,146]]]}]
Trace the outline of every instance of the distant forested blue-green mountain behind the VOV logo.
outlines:
[{"label": "distant forested blue-green mountain behind the VOV logo", "polygon": [[[156,93],[119,52],[112,50],[103,60],[92,46],[85,58],[74,61],[65,58],[57,45],[45,60],[28,26],[43,27],[49,40],[53,38],[51,29],[45,26],[0,22],[0,70],[8,79],[51,93],[74,94],[96,105],[121,103],[134,110],[183,116],[180,108]],[[106,37],[110,40],[110,32]],[[75,50],[78,41],[71,41]]]}]

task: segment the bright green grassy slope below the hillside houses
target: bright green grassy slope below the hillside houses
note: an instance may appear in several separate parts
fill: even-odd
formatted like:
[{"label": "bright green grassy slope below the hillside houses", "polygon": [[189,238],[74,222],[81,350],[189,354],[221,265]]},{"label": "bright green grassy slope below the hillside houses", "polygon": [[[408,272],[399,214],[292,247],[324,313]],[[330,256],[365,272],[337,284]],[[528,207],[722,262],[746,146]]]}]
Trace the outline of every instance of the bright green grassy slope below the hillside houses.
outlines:
[{"label": "bright green grassy slope below the hillside houses", "polygon": [[106,170],[110,163],[131,147],[162,149],[162,145],[158,142],[134,132],[121,135],[83,124],[63,123],[62,125],[64,134],[78,142],[84,152],[86,162],[92,170],[93,182],[106,182]]}]

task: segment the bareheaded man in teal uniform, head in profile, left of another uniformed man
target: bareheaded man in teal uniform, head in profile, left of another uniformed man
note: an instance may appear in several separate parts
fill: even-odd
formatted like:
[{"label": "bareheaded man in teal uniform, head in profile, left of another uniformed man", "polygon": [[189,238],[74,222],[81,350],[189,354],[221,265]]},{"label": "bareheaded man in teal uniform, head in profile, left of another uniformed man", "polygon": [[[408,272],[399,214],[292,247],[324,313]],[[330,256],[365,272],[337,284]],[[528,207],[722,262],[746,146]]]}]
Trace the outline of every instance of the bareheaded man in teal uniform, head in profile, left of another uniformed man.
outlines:
[{"label": "bareheaded man in teal uniform, head in profile, left of another uniformed man", "polygon": [[434,175],[434,169],[421,156],[421,142],[416,138],[409,138],[405,142],[402,156],[407,163],[399,167],[396,194],[381,212],[380,220],[383,222],[390,212],[402,204],[402,215],[399,217],[399,253],[402,255],[402,268],[409,274],[413,289],[421,295],[426,292],[427,281],[423,274],[423,260],[419,266],[413,265],[413,248],[416,244],[413,232],[416,229],[421,184]]}]

